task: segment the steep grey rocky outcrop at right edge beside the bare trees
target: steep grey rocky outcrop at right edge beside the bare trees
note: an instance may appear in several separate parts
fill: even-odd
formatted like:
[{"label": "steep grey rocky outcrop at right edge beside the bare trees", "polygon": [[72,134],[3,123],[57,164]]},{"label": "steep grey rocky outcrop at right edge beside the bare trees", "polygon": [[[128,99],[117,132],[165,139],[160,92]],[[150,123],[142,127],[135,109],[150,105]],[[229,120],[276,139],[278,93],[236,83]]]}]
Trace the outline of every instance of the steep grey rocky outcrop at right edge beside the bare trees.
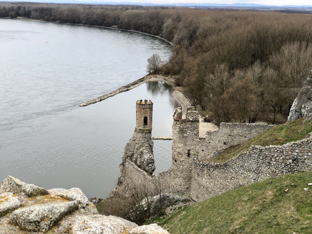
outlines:
[{"label": "steep grey rocky outcrop at right edge beside the bare trees", "polygon": [[312,119],[312,70],[302,89],[294,100],[287,121],[306,118]]}]

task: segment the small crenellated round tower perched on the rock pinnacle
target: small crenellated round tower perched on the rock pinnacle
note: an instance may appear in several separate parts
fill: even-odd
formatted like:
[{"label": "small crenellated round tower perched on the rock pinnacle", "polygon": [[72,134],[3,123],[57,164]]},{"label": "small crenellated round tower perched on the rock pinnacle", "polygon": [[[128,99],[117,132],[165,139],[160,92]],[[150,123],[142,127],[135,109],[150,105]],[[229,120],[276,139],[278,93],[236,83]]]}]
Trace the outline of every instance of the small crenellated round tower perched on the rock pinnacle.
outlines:
[{"label": "small crenellated round tower perched on the rock pinnacle", "polygon": [[137,132],[152,132],[153,102],[151,100],[136,101],[136,127]]}]

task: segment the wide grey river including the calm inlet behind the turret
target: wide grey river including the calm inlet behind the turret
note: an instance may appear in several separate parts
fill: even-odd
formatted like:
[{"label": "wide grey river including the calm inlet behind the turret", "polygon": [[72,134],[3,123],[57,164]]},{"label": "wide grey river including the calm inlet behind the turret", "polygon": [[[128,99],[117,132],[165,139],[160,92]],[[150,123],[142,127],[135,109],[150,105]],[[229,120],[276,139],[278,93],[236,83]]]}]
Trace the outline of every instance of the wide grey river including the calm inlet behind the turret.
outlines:
[{"label": "wide grey river including the calm inlet behind the turret", "polygon": [[[153,136],[171,135],[173,87],[148,82],[79,107],[146,74],[170,55],[147,35],[99,27],[0,19],[0,180],[78,187],[105,197],[135,127],[135,101],[154,101]],[[154,141],[156,171],[171,166],[171,141]]]}]

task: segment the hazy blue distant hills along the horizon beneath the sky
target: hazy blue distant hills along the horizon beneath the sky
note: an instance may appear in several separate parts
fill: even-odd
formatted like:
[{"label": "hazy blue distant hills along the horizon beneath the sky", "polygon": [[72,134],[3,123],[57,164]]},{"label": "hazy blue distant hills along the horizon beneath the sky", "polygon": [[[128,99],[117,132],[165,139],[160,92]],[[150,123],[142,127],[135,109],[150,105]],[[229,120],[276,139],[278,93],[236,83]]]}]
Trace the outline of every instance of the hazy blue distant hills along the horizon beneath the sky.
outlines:
[{"label": "hazy blue distant hills along the horizon beneath the sky", "polygon": [[76,0],[0,0],[0,2],[44,2],[44,3],[69,3],[69,4],[96,4],[96,5],[138,5],[138,6],[179,6],[179,7],[222,7],[222,8],[312,8],[312,5],[261,5],[254,3],[152,3],[152,2],[97,2],[97,1],[76,1]]}]

